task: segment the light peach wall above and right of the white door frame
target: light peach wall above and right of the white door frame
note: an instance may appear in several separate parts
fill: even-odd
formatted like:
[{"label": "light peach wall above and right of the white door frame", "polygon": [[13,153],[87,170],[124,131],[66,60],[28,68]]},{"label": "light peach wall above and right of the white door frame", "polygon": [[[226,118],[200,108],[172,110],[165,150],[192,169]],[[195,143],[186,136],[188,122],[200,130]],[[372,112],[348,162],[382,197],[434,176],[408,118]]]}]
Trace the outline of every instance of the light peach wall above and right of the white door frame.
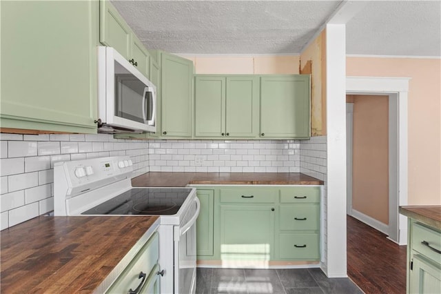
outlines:
[{"label": "light peach wall above and right of the white door frame", "polygon": [[347,57],[348,77],[411,77],[409,205],[441,204],[441,59]]}]

